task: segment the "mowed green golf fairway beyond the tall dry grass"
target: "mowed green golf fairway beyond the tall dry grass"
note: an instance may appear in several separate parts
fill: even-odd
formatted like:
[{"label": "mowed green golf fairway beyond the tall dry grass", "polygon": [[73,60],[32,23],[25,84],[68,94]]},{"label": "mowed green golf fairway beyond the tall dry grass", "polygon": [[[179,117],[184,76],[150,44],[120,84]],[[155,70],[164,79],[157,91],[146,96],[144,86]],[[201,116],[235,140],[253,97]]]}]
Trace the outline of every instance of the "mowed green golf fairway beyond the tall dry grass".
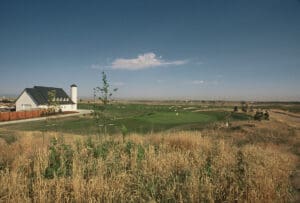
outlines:
[{"label": "mowed green golf fairway beyond the tall dry grass", "polygon": [[[92,105],[83,104],[80,105],[80,108],[89,109],[92,108]],[[183,106],[168,105],[114,104],[108,108],[107,113],[111,118],[108,124],[110,134],[120,133],[122,125],[126,126],[129,132],[145,134],[172,130],[173,128],[176,130],[181,128],[184,130],[199,129],[215,122],[249,119],[249,116],[241,113],[195,112],[195,109],[187,110]],[[6,128],[67,132],[81,135],[90,135],[101,131],[101,126],[96,125],[92,115],[20,123],[6,126]]]}]

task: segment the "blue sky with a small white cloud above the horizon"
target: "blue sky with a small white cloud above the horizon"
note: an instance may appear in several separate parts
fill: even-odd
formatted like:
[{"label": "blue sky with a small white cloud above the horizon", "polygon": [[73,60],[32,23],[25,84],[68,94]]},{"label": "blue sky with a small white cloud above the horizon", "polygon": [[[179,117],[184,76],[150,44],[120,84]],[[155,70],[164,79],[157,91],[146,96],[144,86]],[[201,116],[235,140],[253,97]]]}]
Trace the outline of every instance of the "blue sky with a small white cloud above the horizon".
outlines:
[{"label": "blue sky with a small white cloud above the horizon", "polygon": [[0,95],[300,101],[299,0],[0,1]]}]

